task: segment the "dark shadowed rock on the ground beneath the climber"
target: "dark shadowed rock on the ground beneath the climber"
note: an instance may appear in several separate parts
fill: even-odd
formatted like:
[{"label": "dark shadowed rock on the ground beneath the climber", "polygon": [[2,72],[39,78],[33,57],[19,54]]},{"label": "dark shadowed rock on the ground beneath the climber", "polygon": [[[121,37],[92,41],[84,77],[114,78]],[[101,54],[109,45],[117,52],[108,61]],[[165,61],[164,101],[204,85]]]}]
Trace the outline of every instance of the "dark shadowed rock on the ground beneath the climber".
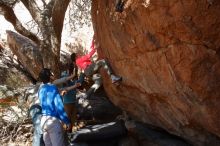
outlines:
[{"label": "dark shadowed rock on the ground beneath the climber", "polygon": [[121,110],[108,99],[104,88],[99,88],[89,99],[79,95],[77,100],[79,119],[95,121],[113,121]]}]

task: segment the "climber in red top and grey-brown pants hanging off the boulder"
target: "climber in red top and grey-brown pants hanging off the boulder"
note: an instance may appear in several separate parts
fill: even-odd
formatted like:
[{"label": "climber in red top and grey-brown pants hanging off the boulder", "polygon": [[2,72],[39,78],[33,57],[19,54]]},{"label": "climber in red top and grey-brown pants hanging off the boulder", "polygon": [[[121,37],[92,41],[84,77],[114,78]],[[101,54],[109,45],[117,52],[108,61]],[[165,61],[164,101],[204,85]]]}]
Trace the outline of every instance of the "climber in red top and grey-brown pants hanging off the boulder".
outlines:
[{"label": "climber in red top and grey-brown pants hanging off the boulder", "polygon": [[102,85],[102,78],[98,72],[98,70],[103,67],[108,75],[111,77],[112,83],[118,83],[122,81],[122,77],[117,76],[113,73],[111,67],[109,66],[108,62],[105,59],[97,60],[92,62],[91,58],[96,52],[98,45],[95,44],[95,40],[93,39],[92,45],[90,47],[92,50],[90,53],[84,56],[78,56],[77,53],[71,54],[71,61],[78,66],[79,69],[84,71],[87,77],[91,77],[94,81],[94,84],[90,87],[90,89],[86,92],[85,97],[90,97],[92,93],[94,93],[101,85]]}]

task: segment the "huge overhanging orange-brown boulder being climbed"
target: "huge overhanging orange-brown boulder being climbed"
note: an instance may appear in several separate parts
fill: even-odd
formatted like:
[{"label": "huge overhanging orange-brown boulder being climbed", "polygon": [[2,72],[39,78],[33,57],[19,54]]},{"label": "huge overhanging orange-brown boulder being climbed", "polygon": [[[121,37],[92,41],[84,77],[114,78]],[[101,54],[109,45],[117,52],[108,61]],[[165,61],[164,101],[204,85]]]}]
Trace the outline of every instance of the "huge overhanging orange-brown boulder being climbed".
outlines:
[{"label": "huge overhanging orange-brown boulder being climbed", "polygon": [[220,145],[220,1],[93,0],[109,98],[137,120],[195,145]]}]

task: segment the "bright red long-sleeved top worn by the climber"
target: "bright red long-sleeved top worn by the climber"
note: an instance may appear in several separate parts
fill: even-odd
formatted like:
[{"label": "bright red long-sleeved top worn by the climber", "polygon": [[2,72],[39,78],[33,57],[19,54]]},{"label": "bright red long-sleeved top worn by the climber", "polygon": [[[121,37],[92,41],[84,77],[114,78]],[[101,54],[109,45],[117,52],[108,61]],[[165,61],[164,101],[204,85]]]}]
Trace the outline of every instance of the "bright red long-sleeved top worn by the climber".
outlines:
[{"label": "bright red long-sleeved top worn by the climber", "polygon": [[85,70],[87,66],[92,64],[91,57],[96,52],[96,49],[94,48],[94,41],[92,41],[90,48],[92,50],[89,52],[89,54],[76,58],[76,65],[82,70]]}]

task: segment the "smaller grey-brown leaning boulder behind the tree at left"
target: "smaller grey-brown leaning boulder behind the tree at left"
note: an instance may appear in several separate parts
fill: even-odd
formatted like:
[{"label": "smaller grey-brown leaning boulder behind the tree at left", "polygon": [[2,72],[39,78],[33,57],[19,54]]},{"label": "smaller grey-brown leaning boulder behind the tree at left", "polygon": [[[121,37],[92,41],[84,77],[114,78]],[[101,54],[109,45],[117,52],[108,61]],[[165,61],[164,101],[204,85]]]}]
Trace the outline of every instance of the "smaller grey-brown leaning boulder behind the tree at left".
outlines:
[{"label": "smaller grey-brown leaning boulder behind the tree at left", "polygon": [[43,67],[42,57],[37,45],[30,39],[12,31],[7,31],[7,42],[21,64],[37,79]]}]

